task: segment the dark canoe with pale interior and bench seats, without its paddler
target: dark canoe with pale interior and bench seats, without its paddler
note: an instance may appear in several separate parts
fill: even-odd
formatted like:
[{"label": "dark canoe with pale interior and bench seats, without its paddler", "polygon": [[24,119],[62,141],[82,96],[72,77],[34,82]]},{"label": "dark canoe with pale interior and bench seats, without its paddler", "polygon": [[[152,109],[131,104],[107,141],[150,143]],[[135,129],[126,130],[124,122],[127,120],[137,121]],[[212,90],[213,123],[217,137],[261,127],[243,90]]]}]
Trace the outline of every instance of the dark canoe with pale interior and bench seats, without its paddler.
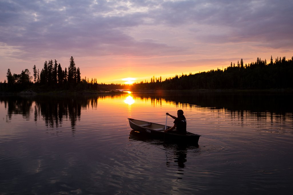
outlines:
[{"label": "dark canoe with pale interior and bench seats, without its paddler", "polygon": [[[164,139],[166,141],[184,141],[188,143],[198,144],[198,140],[200,135],[193,134],[187,132],[186,135],[177,134],[175,131],[169,131],[168,133],[164,133],[165,125],[151,123],[147,121],[140,121],[136,119],[130,119],[129,124],[130,127],[134,130],[134,132],[151,136],[153,138]],[[169,128],[170,126],[166,126]]]}]

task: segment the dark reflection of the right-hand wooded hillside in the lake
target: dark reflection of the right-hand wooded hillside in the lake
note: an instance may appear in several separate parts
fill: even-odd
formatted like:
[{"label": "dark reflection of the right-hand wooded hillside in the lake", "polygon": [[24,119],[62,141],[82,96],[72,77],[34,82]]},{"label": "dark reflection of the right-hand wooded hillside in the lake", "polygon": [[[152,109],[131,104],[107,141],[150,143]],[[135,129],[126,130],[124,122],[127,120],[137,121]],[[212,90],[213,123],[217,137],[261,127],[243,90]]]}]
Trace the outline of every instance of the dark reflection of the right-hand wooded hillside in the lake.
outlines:
[{"label": "dark reflection of the right-hand wooded hillside in the lake", "polygon": [[141,98],[151,99],[153,104],[161,102],[190,107],[207,107],[224,109],[231,115],[243,120],[244,116],[257,119],[271,118],[280,121],[293,113],[293,94],[276,93],[173,93],[162,95],[140,95]]}]

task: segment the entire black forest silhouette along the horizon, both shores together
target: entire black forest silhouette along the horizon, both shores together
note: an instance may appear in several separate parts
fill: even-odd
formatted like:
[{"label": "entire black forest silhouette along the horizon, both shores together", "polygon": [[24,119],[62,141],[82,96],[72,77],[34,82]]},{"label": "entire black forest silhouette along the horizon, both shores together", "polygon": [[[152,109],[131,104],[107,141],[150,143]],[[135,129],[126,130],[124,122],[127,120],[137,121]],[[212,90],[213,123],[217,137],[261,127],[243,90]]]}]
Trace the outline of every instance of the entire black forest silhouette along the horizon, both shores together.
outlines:
[{"label": "entire black forest silhouette along the horizon, both shores together", "polygon": [[96,78],[81,78],[81,70],[76,68],[74,58],[69,60],[68,68],[64,70],[55,59],[45,61],[41,71],[33,66],[33,76],[25,69],[21,74],[7,71],[7,81],[0,83],[3,92],[19,92],[33,90],[35,92],[70,90],[70,91],[109,91],[115,89],[131,90],[195,90],[195,89],[286,89],[293,86],[293,57],[277,57],[270,63],[257,58],[250,64],[243,64],[243,59],[237,65],[230,64],[225,69],[210,70],[195,74],[176,75],[162,81],[161,76],[153,76],[148,81],[141,81],[132,85],[98,83]]}]

